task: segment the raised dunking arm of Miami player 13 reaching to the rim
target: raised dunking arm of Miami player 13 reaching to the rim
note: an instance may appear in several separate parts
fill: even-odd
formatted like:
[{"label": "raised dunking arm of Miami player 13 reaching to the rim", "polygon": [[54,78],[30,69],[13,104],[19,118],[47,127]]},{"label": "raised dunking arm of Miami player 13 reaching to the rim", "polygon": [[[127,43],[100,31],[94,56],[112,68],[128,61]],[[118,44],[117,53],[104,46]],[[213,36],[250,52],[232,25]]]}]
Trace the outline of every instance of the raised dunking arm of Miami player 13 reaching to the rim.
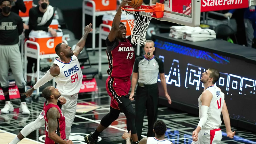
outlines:
[{"label": "raised dunking arm of Miami player 13 reaching to the rim", "polygon": [[113,42],[116,38],[117,31],[119,29],[119,25],[120,25],[120,21],[121,21],[121,15],[122,15],[121,7],[125,6],[125,4],[130,3],[130,2],[131,2],[131,0],[123,0],[120,3],[119,8],[116,12],[116,15],[113,19],[112,28],[108,34],[109,42]]}]

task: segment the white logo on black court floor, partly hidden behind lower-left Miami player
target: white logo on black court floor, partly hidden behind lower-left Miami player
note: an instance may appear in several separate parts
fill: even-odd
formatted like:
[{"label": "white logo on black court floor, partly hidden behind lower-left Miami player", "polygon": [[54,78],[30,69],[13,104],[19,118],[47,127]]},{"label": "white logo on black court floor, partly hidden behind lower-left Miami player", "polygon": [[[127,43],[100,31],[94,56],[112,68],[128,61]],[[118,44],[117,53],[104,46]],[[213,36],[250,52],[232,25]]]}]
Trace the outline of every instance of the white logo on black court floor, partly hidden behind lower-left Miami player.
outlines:
[{"label": "white logo on black court floor, partly hidden behind lower-left Miami player", "polygon": [[[88,135],[87,133],[70,133],[69,135],[69,140],[72,140],[74,144],[76,143],[85,143],[84,141],[84,137]],[[99,140],[98,141],[101,141],[101,137],[98,137]],[[40,141],[44,142],[45,140],[45,135],[42,135],[41,137],[38,138]]]}]

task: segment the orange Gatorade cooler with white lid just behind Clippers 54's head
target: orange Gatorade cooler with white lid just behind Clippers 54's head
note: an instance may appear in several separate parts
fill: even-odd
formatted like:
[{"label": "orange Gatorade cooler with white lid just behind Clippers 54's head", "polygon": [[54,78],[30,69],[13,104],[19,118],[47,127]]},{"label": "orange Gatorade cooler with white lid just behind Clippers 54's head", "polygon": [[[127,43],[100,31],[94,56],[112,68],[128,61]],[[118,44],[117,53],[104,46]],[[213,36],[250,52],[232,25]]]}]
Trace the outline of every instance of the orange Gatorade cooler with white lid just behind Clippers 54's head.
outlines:
[{"label": "orange Gatorade cooler with white lid just behind Clippers 54's head", "polygon": [[[62,36],[62,31],[57,32],[57,37],[52,37],[50,32],[39,30],[31,31],[29,34],[29,40],[39,44],[40,54],[53,54],[55,53],[55,46],[62,42]],[[37,49],[34,44],[29,44],[28,47]]]}]

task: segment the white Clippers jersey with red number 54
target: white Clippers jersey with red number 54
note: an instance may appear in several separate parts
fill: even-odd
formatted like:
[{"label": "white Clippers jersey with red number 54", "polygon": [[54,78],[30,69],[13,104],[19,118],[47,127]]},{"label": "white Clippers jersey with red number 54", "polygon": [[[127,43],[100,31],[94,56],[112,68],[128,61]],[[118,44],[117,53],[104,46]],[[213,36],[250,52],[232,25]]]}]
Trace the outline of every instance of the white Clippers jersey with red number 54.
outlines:
[{"label": "white Clippers jersey with red number 54", "polygon": [[77,94],[80,91],[83,79],[77,57],[73,55],[68,63],[62,62],[60,58],[57,58],[53,63],[60,68],[60,75],[55,77],[56,88],[59,89],[60,94],[66,96]]}]

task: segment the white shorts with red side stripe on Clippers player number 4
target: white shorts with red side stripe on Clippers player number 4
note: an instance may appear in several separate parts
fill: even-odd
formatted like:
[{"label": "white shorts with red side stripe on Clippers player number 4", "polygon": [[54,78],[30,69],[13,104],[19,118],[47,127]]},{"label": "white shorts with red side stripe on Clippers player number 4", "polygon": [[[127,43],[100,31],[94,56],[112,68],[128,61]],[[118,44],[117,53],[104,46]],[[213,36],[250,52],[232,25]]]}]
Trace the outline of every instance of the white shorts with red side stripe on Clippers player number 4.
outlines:
[{"label": "white shorts with red side stripe on Clippers player number 4", "polygon": [[192,144],[220,144],[222,139],[221,129],[204,130],[198,133],[198,140],[193,141]]}]

